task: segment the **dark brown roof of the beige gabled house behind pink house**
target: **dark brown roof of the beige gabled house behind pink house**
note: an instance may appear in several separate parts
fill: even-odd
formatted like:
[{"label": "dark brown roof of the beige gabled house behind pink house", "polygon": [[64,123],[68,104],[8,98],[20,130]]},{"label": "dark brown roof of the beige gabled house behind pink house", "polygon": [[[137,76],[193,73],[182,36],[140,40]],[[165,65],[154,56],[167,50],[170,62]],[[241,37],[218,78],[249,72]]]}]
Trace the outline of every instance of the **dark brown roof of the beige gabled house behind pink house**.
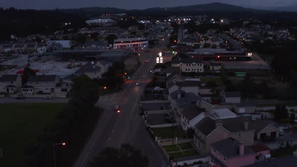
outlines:
[{"label": "dark brown roof of the beige gabled house behind pink house", "polygon": [[[244,128],[245,120],[248,121],[248,129]],[[215,127],[215,121],[221,121],[222,127],[227,129],[230,132],[242,132],[242,131],[251,131],[255,130],[254,125],[252,124],[249,117],[236,117],[236,118],[227,118],[227,119],[218,119],[213,120],[209,117],[203,118],[199,123],[195,125],[203,134],[208,135],[212,132]]]}]

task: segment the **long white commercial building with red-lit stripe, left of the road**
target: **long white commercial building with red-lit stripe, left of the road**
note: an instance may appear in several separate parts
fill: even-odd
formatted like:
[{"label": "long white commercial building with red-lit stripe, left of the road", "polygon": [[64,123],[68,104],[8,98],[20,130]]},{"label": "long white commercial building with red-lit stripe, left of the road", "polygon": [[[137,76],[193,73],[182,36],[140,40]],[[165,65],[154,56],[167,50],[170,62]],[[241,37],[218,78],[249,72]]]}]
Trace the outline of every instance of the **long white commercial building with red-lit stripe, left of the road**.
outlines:
[{"label": "long white commercial building with red-lit stripe, left of the road", "polygon": [[146,38],[122,38],[116,39],[113,42],[114,49],[137,49],[137,48],[147,48],[148,41]]}]

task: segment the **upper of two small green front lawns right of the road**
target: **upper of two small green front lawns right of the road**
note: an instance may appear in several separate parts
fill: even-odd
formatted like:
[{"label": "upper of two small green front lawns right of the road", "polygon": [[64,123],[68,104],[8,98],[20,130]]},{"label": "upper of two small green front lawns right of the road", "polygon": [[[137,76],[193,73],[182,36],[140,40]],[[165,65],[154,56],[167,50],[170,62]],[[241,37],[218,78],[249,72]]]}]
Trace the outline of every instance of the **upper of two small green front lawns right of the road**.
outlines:
[{"label": "upper of two small green front lawns right of the road", "polygon": [[[157,137],[161,137],[161,139],[172,138],[172,127],[166,128],[152,128],[153,133]],[[182,137],[183,131],[180,128],[174,127],[173,130],[174,137]]]}]

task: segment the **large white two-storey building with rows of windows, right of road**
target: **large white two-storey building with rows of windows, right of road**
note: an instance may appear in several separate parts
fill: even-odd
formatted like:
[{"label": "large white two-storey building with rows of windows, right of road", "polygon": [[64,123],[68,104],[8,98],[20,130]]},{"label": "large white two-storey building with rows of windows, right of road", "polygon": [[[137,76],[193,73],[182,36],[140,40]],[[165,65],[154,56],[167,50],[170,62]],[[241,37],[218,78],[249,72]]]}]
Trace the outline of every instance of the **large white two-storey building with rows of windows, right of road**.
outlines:
[{"label": "large white two-storey building with rows of windows, right of road", "polygon": [[204,72],[203,61],[195,58],[174,57],[171,64],[172,67],[180,67],[181,72]]}]

